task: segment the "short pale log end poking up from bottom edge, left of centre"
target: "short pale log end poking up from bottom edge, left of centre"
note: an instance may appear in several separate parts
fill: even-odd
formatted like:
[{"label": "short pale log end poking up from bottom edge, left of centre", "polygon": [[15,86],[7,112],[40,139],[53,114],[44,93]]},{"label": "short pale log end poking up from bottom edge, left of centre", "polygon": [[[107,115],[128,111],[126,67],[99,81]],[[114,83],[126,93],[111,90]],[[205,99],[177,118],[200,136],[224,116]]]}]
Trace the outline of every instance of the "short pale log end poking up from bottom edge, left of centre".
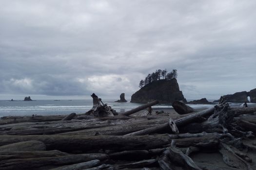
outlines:
[{"label": "short pale log end poking up from bottom edge, left of centre", "polygon": [[66,166],[54,168],[51,170],[82,170],[82,169],[96,167],[99,164],[100,164],[100,160],[96,159],[96,160],[91,160],[91,161],[82,162],[78,164],[66,165]]}]

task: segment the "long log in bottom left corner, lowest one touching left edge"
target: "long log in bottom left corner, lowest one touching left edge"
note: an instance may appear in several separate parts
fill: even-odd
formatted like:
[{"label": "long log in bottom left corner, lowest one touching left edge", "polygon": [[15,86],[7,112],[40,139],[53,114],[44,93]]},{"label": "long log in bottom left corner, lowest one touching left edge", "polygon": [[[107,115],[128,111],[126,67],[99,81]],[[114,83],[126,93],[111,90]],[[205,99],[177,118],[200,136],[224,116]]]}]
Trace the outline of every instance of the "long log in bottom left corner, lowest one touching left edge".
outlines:
[{"label": "long log in bottom left corner, lowest one touching left edge", "polygon": [[10,159],[0,161],[1,170],[35,170],[39,167],[56,167],[62,165],[70,165],[75,163],[86,162],[90,160],[108,159],[107,154],[90,153],[90,154],[73,154],[59,157],[40,157],[28,159]]}]

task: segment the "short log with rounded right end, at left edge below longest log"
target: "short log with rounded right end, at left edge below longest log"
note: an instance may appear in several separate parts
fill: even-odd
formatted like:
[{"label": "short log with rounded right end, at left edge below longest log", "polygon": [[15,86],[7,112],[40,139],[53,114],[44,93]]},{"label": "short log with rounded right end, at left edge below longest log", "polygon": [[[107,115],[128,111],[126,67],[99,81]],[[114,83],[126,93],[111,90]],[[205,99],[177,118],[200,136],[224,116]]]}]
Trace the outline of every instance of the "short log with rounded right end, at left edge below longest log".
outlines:
[{"label": "short log with rounded right end, at left edge below longest log", "polygon": [[21,141],[17,143],[0,146],[0,152],[45,151],[45,149],[46,149],[45,144],[37,140]]}]

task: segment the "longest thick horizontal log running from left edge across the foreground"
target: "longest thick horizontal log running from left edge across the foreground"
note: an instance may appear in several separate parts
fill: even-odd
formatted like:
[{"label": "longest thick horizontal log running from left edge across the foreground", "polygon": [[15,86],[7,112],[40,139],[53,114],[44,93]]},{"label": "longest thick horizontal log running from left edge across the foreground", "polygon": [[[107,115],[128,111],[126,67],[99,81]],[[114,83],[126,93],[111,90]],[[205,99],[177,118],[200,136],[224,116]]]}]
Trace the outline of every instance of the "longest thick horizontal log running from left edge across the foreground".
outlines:
[{"label": "longest thick horizontal log running from left edge across the foreground", "polygon": [[[10,143],[39,140],[46,145],[47,150],[59,150],[67,153],[89,153],[103,150],[148,150],[162,148],[170,144],[171,138],[168,134],[145,135],[145,136],[60,136],[60,135],[42,135],[42,136],[8,136],[1,135],[0,146]],[[210,135],[191,138],[176,139],[178,147],[189,146],[215,146],[219,139],[224,136]]]}]

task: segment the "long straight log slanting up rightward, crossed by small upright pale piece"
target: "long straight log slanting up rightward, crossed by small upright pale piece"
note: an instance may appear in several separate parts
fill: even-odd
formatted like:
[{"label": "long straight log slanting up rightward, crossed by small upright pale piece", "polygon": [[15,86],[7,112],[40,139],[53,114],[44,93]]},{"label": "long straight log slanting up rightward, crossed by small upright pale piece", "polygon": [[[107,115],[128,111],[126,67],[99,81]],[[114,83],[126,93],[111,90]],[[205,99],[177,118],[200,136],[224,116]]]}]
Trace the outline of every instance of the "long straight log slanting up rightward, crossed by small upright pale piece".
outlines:
[{"label": "long straight log slanting up rightward, crossed by small upright pale piece", "polygon": [[[174,122],[175,122],[176,126],[179,127],[179,126],[182,126],[184,124],[193,122],[194,120],[196,120],[200,117],[211,115],[211,114],[214,113],[214,110],[215,110],[215,108],[212,107],[212,108],[209,108],[209,109],[206,109],[206,110],[188,115],[186,117],[176,119],[176,120],[174,120]],[[152,134],[152,133],[156,133],[156,132],[159,132],[161,130],[164,130],[166,128],[169,128],[169,122],[163,123],[163,124],[160,124],[160,125],[157,125],[157,126],[154,126],[154,127],[150,127],[150,128],[147,128],[147,129],[143,129],[143,130],[140,130],[140,131],[137,131],[137,132],[133,132],[133,133],[127,134],[127,136]]]}]

